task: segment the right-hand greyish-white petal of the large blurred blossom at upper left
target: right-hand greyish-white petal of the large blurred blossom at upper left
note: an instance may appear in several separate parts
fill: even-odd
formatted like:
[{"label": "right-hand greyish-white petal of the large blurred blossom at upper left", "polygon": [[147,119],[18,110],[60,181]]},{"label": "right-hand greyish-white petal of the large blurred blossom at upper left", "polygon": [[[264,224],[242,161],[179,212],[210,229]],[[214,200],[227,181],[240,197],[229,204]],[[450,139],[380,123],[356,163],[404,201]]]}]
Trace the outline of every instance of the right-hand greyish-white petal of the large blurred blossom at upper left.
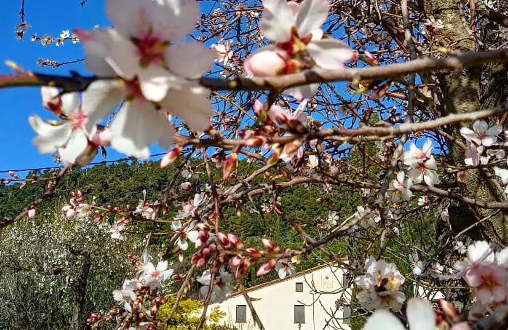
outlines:
[{"label": "right-hand greyish-white petal of the large blurred blossom at upper left", "polygon": [[215,59],[213,50],[197,42],[172,45],[166,52],[169,70],[181,77],[198,79],[209,71]]}]

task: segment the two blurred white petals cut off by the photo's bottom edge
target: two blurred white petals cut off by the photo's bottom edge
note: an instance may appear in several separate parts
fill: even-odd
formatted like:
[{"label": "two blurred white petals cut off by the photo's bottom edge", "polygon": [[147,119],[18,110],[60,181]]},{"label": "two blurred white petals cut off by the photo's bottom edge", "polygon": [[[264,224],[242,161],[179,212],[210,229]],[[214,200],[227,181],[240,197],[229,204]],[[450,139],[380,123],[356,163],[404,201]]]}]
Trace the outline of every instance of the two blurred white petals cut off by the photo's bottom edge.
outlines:
[{"label": "two blurred white petals cut off by the photo's bottom edge", "polygon": [[[432,305],[429,301],[413,298],[407,302],[406,309],[409,330],[433,330],[436,326],[436,318]],[[367,319],[363,330],[378,330],[386,328],[390,330],[405,330],[399,318],[386,310],[374,312]]]}]

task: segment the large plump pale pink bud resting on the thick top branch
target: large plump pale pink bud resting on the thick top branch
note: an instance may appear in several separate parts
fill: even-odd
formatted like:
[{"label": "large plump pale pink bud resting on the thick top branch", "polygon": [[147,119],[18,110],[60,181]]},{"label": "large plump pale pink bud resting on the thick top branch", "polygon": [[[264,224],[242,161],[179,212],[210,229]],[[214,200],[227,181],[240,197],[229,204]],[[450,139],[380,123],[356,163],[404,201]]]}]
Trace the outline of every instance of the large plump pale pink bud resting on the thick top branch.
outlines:
[{"label": "large plump pale pink bud resting on the thick top branch", "polygon": [[243,64],[243,68],[254,76],[273,77],[287,71],[287,64],[279,53],[262,50],[250,55]]}]

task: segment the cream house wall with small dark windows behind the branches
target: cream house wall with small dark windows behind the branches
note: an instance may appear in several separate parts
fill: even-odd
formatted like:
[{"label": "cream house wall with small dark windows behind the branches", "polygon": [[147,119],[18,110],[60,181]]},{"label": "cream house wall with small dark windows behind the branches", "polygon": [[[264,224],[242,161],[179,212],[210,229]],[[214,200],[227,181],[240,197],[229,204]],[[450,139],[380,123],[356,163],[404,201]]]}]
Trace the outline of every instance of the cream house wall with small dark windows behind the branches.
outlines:
[{"label": "cream house wall with small dark windows behind the branches", "polygon": [[[350,330],[351,288],[344,272],[321,265],[292,277],[277,279],[246,289],[264,327],[276,330]],[[240,292],[218,306],[226,315],[218,323],[239,330],[257,328]]]}]

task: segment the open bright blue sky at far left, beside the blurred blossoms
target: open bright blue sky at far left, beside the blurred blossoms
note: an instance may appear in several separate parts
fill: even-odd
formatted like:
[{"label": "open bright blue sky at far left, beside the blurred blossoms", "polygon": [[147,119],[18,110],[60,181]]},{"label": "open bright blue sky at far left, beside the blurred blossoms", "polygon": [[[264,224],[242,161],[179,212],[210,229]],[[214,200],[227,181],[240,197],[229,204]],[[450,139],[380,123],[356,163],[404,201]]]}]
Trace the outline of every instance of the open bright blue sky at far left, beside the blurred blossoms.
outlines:
[{"label": "open bright blue sky at far left, beside the blurred blossoms", "polygon": [[[75,27],[91,29],[95,24],[109,25],[104,11],[104,0],[89,0],[80,6],[80,0],[26,1],[25,20],[31,25],[23,41],[17,41],[14,28],[20,21],[18,13],[21,0],[0,2],[2,23],[0,23],[0,74],[11,73],[4,61],[10,59],[21,67],[37,72],[66,74],[69,70],[86,73],[82,64],[65,65],[57,69],[40,68],[38,58],[52,58],[58,61],[75,60],[83,57],[80,44],[73,45],[67,41],[60,47],[42,46],[39,42],[31,42],[35,32],[39,36],[49,34],[57,37],[61,30]],[[29,115],[37,113],[45,115],[41,107],[40,90],[36,87],[0,89],[0,170],[53,166],[52,155],[41,155],[31,144],[35,137],[28,125]],[[108,150],[110,152],[110,150]],[[111,158],[113,152],[111,150]]]}]

